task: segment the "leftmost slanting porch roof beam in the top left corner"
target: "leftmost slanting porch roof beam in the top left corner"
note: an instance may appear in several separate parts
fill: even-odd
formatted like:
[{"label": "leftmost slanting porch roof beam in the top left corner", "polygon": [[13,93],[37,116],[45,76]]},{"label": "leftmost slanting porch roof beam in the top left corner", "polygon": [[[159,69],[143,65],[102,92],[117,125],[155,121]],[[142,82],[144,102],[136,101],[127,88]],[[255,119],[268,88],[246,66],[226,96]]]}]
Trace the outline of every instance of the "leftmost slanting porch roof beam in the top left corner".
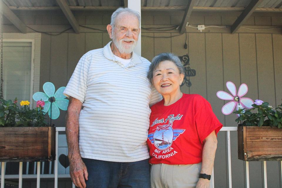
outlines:
[{"label": "leftmost slanting porch roof beam in the top left corner", "polygon": [[9,7],[0,0],[0,11],[3,13],[3,15],[10,21],[16,28],[18,28],[22,33],[26,33],[26,25],[24,22],[22,22],[16,14],[14,14],[13,11],[9,9]]}]

